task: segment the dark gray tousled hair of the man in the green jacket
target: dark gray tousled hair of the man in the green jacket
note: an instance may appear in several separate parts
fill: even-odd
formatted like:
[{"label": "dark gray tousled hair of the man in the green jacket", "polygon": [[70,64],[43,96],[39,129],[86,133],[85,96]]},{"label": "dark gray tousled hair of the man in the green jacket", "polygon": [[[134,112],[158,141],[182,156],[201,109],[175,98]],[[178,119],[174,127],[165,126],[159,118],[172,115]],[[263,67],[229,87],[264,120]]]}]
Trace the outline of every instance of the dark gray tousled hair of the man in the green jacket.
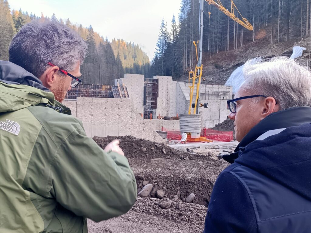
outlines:
[{"label": "dark gray tousled hair of the man in the green jacket", "polygon": [[66,25],[58,22],[31,21],[13,37],[9,61],[40,77],[48,62],[65,71],[73,71],[83,63],[86,42]]}]

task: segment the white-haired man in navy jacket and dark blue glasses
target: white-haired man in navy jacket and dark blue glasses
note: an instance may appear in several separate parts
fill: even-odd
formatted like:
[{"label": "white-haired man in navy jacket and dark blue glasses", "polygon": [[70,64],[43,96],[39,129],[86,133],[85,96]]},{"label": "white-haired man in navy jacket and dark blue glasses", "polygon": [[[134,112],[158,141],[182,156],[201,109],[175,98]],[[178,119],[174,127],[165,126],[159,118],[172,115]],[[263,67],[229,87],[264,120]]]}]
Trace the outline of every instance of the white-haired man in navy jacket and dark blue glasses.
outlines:
[{"label": "white-haired man in navy jacket and dark blue glasses", "polygon": [[204,232],[310,232],[311,74],[284,57],[244,65],[228,100],[239,145],[218,176]]}]

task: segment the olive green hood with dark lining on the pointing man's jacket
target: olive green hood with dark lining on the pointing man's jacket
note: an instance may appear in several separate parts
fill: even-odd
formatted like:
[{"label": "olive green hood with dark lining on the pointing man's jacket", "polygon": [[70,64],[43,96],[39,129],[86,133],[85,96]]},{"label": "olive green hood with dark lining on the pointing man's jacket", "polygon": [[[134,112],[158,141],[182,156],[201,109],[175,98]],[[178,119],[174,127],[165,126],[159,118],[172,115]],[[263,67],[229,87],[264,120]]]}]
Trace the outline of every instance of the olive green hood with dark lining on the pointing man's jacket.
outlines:
[{"label": "olive green hood with dark lining on the pointing man's jacket", "polygon": [[32,105],[70,112],[54,99],[54,94],[35,75],[12,62],[0,61],[0,112],[12,112]]}]

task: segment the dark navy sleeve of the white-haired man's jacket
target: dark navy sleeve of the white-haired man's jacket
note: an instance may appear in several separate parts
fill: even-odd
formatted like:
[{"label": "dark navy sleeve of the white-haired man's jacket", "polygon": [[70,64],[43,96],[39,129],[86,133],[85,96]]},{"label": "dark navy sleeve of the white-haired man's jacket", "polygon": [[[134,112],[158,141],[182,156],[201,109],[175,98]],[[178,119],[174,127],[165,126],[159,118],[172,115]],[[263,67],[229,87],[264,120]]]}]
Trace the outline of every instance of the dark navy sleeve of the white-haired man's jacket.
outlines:
[{"label": "dark navy sleeve of the white-haired man's jacket", "polygon": [[257,232],[257,221],[247,190],[228,171],[220,173],[208,205],[203,233]]}]

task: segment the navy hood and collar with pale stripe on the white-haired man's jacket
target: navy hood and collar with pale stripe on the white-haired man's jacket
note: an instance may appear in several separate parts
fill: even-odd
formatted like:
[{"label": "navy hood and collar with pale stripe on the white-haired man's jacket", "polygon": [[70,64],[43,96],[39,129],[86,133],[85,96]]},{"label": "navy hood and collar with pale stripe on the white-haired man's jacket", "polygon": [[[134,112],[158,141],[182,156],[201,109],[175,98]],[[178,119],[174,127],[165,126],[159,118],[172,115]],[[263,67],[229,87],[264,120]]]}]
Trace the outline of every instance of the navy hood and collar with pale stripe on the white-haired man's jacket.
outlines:
[{"label": "navy hood and collar with pale stripe on the white-haired man's jacket", "polygon": [[[311,200],[311,107],[294,107],[258,123],[231,156]],[[229,156],[230,157],[230,156]]]}]

